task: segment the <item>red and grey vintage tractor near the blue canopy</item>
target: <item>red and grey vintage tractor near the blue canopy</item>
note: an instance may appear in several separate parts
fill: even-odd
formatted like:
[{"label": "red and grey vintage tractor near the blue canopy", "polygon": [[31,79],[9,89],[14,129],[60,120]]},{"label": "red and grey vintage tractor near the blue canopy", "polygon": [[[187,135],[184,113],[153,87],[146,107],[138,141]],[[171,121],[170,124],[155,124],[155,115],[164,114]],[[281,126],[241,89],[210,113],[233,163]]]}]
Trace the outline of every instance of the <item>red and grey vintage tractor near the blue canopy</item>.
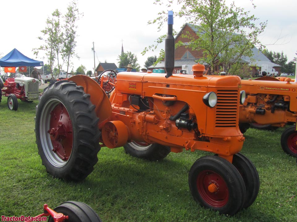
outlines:
[{"label": "red and grey vintage tractor near the blue canopy", "polygon": [[39,91],[39,80],[26,77],[21,72],[12,73],[5,82],[0,78],[0,103],[2,96],[7,97],[7,106],[10,110],[18,109],[18,99],[26,102],[37,100]]}]

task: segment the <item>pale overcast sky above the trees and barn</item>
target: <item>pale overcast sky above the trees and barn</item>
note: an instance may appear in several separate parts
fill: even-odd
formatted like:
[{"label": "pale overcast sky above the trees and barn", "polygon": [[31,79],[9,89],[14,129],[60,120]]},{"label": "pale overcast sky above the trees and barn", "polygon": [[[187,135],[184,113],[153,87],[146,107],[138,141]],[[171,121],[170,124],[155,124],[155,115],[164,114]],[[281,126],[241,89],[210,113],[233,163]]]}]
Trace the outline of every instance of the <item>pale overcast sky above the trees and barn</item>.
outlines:
[{"label": "pale overcast sky above the trees and barn", "polygon": [[[1,1],[1,31],[0,58],[13,48],[24,55],[36,59],[32,49],[43,44],[37,39],[42,36],[41,30],[46,27],[46,19],[58,9],[62,14],[67,11],[70,0],[2,0]],[[157,25],[147,22],[157,18],[166,6],[154,5],[153,0],[77,0],[78,8],[84,16],[77,25],[76,53],[80,59],[73,60],[74,71],[81,64],[87,70],[94,68],[94,54],[91,50],[95,45],[95,65],[99,61],[118,65],[118,55],[121,53],[122,39],[124,51],[131,51],[138,58],[140,66],[147,57],[157,55],[158,51],[149,52],[144,56],[141,52],[146,46],[166,34],[167,27],[157,32]],[[227,5],[231,0],[226,0]],[[235,0],[235,5],[250,10],[259,18],[259,22],[268,20],[265,32],[259,36],[260,41],[267,45],[270,51],[283,51],[288,61],[296,57],[297,51],[297,19],[296,0],[254,0],[257,6],[253,9],[250,0]],[[177,6],[173,9],[178,10]],[[174,18],[174,29],[179,31],[183,26],[182,19]],[[160,47],[164,47],[161,45]],[[64,69],[66,66],[63,67]]]}]

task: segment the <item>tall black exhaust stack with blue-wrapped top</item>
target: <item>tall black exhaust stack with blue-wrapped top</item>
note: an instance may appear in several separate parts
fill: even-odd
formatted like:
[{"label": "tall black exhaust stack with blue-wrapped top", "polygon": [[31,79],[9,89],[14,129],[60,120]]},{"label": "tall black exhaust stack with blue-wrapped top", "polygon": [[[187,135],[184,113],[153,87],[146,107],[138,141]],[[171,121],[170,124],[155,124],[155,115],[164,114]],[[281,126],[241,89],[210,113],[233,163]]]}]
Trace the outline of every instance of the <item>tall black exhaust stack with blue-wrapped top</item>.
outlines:
[{"label": "tall black exhaust stack with blue-wrapped top", "polygon": [[172,76],[174,69],[174,37],[172,31],[173,11],[168,11],[168,32],[165,39],[165,70],[166,78]]}]

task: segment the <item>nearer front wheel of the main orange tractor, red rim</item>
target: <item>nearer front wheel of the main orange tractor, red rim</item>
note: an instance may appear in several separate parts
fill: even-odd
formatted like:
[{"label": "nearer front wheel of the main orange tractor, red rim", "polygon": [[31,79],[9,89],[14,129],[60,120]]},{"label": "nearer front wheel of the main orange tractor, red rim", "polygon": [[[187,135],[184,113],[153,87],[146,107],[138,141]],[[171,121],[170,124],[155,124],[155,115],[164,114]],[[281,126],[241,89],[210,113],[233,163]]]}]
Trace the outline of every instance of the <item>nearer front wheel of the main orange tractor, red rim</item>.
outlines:
[{"label": "nearer front wheel of the main orange tractor, red rim", "polygon": [[243,208],[246,188],[239,171],[218,156],[196,160],[189,171],[189,187],[201,206],[234,215]]}]

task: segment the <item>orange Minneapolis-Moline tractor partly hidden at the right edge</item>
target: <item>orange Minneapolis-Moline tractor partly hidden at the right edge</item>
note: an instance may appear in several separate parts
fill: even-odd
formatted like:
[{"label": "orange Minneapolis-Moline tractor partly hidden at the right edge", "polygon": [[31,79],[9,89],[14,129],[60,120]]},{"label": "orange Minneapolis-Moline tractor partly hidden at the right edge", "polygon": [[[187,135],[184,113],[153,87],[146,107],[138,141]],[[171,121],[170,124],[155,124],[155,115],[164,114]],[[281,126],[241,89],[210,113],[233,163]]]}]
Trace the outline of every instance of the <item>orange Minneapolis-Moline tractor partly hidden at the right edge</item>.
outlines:
[{"label": "orange Minneapolis-Moline tractor partly hidden at the right edge", "polygon": [[[287,77],[260,77],[242,80],[246,100],[239,111],[239,128],[244,133],[250,123],[283,127],[295,123],[297,117],[297,83]],[[281,136],[282,149],[297,156],[296,125],[288,127]]]}]

